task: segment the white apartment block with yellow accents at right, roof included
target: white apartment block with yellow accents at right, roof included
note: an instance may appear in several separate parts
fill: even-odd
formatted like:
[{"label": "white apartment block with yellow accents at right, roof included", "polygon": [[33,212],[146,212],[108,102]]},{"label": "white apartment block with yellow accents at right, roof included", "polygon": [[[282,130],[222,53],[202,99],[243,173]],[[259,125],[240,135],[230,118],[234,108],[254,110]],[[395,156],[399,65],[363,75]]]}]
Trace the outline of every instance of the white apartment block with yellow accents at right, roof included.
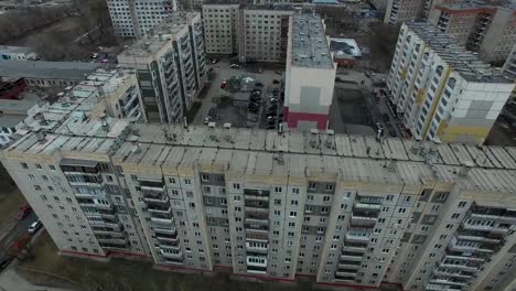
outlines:
[{"label": "white apartment block with yellow accents at right, roof included", "polygon": [[482,144],[514,88],[454,39],[426,23],[401,26],[387,86],[416,139]]}]

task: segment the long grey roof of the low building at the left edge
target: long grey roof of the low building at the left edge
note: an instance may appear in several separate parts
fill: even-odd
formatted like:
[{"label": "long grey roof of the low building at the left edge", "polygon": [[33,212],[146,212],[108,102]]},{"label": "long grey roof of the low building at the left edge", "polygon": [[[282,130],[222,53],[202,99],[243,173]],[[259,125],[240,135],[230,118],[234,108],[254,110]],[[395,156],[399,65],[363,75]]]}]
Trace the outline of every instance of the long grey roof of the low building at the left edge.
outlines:
[{"label": "long grey roof of the low building at the left edge", "polygon": [[99,67],[109,67],[109,65],[82,62],[1,61],[0,76],[79,80]]}]

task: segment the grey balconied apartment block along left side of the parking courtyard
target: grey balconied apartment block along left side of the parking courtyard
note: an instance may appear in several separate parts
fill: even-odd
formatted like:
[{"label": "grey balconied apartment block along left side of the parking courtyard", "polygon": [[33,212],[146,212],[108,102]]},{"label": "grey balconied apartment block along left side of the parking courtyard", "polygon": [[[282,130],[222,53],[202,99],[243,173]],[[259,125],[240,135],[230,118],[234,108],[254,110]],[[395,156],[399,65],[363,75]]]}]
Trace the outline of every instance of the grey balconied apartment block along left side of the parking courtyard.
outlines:
[{"label": "grey balconied apartment block along left side of the parking courtyard", "polygon": [[118,55],[137,69],[144,112],[151,122],[183,122],[206,79],[201,14],[175,12]]}]

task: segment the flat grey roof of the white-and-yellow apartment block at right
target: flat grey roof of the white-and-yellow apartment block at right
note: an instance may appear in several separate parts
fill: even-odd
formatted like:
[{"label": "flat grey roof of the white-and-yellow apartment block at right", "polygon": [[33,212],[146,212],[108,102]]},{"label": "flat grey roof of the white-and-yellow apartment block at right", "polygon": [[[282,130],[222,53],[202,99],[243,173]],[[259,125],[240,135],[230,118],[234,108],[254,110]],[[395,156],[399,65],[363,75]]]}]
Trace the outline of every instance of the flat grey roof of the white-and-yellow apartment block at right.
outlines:
[{"label": "flat grey roof of the white-and-yellow apartment block at right", "polygon": [[513,83],[513,80],[495,72],[490,64],[481,61],[475,54],[455,44],[452,36],[440,32],[431,24],[422,22],[406,24],[426,45],[430,46],[449,66],[453,67],[453,72],[459,73],[469,82]]}]

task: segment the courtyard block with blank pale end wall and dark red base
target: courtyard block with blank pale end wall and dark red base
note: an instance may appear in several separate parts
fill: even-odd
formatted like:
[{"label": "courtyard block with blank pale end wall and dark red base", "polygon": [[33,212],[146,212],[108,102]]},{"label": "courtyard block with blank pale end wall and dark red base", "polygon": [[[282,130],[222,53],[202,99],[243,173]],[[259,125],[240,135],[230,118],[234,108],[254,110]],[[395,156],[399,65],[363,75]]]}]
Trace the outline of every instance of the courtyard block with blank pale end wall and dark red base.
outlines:
[{"label": "courtyard block with blank pale end wall and dark red base", "polygon": [[283,107],[288,128],[327,128],[336,64],[324,29],[316,14],[290,18]]}]

